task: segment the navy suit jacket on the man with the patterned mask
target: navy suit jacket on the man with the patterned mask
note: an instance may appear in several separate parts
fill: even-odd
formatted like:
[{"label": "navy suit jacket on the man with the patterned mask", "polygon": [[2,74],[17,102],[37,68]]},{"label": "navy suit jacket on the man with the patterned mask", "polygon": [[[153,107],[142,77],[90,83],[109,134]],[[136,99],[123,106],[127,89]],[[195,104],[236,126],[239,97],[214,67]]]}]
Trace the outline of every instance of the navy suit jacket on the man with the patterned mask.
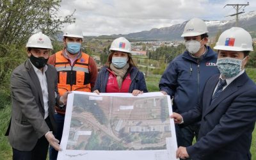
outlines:
[{"label": "navy suit jacket on the man with the patterned mask", "polygon": [[251,159],[250,145],[256,120],[256,86],[244,72],[211,104],[220,75],[212,76],[198,105],[182,114],[184,125],[201,120],[198,141],[187,147],[193,159]]}]

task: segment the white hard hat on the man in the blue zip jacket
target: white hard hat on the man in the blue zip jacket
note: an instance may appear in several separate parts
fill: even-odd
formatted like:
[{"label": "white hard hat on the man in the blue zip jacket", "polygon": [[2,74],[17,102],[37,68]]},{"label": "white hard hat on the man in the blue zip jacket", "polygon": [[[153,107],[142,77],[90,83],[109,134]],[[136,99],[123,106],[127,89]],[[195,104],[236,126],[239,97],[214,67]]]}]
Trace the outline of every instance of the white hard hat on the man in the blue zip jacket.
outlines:
[{"label": "white hard hat on the man in the blue zip jacket", "polygon": [[198,36],[204,33],[208,33],[204,20],[194,18],[188,21],[181,36]]}]

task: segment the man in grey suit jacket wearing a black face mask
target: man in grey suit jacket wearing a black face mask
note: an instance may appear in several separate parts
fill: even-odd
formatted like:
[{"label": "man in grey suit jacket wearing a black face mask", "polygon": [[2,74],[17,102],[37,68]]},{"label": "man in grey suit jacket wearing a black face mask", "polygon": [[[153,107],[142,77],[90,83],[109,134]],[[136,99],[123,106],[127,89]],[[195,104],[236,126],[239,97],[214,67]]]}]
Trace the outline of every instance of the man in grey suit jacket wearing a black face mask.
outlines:
[{"label": "man in grey suit jacket wearing a black face mask", "polygon": [[56,69],[46,65],[52,49],[49,37],[36,33],[26,47],[28,60],[11,76],[12,119],[6,135],[13,159],[46,159],[49,143],[60,150],[52,134],[56,129],[54,106],[65,104],[68,92],[60,97]]}]

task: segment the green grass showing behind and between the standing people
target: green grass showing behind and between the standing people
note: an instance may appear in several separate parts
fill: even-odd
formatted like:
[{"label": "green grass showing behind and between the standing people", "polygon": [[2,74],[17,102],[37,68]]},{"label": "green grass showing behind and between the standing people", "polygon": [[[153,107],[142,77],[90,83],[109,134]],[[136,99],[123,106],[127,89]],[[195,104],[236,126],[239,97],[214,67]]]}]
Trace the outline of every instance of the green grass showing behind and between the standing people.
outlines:
[{"label": "green grass showing behind and between the standing people", "polygon": [[[256,68],[247,68],[246,73],[248,76],[256,81]],[[148,92],[159,91],[158,84],[161,76],[152,76],[146,78]],[[11,160],[12,159],[12,148],[8,143],[8,139],[4,136],[8,123],[10,120],[10,104],[5,104],[4,109],[0,109],[0,160]],[[252,159],[256,159],[256,129],[254,129],[253,140],[251,145]]]}]

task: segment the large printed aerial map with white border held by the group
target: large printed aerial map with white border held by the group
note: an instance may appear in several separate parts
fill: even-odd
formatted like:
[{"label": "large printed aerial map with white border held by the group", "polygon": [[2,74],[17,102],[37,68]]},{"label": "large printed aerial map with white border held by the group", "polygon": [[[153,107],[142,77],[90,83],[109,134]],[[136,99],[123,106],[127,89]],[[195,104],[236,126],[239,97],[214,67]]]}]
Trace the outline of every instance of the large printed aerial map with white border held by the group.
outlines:
[{"label": "large printed aerial map with white border held by the group", "polygon": [[170,109],[170,97],[159,92],[73,92],[58,159],[175,159]]}]

